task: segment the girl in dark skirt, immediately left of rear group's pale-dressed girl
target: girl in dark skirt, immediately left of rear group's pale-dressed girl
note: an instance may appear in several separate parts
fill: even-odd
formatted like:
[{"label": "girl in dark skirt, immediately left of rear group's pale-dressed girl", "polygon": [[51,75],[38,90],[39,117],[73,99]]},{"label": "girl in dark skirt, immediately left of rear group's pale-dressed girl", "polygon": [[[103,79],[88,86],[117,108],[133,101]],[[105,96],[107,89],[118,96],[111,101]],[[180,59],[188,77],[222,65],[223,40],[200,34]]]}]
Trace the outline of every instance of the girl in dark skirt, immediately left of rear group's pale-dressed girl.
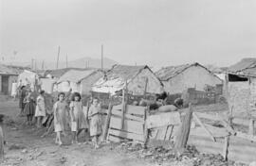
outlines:
[{"label": "girl in dark skirt, immediately left of rear group's pale-dressed girl", "polygon": [[24,99],[25,114],[27,115],[27,125],[32,125],[32,119],[35,113],[35,100],[32,97],[32,91],[27,91],[27,96]]}]

